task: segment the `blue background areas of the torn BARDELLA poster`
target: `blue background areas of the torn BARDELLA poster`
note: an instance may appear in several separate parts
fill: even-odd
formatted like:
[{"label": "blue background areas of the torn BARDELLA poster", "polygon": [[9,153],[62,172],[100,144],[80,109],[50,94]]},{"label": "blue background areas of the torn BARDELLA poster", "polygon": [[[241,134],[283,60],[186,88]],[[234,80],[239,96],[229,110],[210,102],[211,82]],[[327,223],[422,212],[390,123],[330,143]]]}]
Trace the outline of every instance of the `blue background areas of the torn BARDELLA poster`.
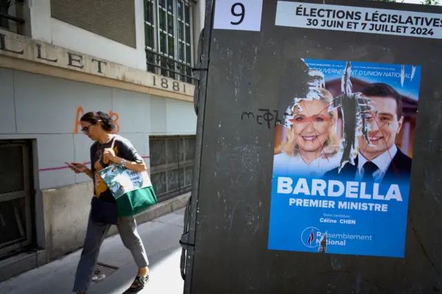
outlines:
[{"label": "blue background areas of the torn BARDELLA poster", "polygon": [[[327,61],[305,59],[309,68],[316,68],[324,73],[327,81],[340,79],[347,61]],[[352,77],[367,83],[382,82],[389,84],[401,95],[415,101],[419,98],[421,68],[405,66],[405,81],[401,83],[401,65],[352,62]],[[307,193],[294,193],[298,181],[307,183]],[[269,224],[268,248],[281,251],[303,251],[318,253],[320,239],[327,233],[327,253],[347,255],[372,255],[382,257],[403,257],[405,252],[405,231],[407,224],[407,206],[410,188],[410,178],[385,178],[378,184],[378,195],[387,195],[392,185],[398,188],[402,201],[397,199],[361,199],[346,197],[345,193],[338,197],[326,195],[311,195],[312,181],[328,179],[322,176],[311,176],[302,169],[289,172],[285,166],[273,165],[273,182],[271,189],[271,209]],[[278,193],[278,181],[283,183]],[[291,182],[291,184],[287,184]],[[347,188],[348,182],[355,184],[354,177],[341,178],[340,182]],[[284,184],[285,183],[285,184]],[[299,183],[298,183],[299,184]],[[298,186],[305,189],[305,185]],[[302,190],[301,189],[301,190]],[[373,186],[367,186],[367,194],[373,195]],[[347,190],[347,189],[346,189]],[[305,190],[304,190],[305,191]],[[397,190],[395,192],[397,194]],[[356,193],[358,194],[358,193]],[[325,207],[318,207],[319,202],[311,205],[310,200],[327,200]],[[302,205],[296,205],[296,203]],[[307,206],[304,201],[307,201]],[[329,201],[334,202],[334,208],[329,207]],[[368,207],[381,204],[384,211],[339,208],[339,202],[361,203]],[[323,203],[324,204],[324,203]],[[315,207],[316,206],[316,207]],[[348,207],[347,206],[347,207]],[[361,207],[359,207],[361,208]],[[386,208],[386,209],[385,209]]]}]

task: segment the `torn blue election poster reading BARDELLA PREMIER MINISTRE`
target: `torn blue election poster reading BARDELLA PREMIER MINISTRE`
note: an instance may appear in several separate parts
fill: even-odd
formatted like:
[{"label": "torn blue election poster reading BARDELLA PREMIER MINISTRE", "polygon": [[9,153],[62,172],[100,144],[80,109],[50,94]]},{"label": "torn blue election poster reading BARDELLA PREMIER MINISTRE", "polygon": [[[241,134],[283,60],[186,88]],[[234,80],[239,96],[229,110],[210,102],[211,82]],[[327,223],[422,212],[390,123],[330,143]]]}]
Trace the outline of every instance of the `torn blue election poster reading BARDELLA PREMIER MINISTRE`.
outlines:
[{"label": "torn blue election poster reading BARDELLA PREMIER MINISTRE", "polygon": [[419,65],[302,59],[280,113],[268,248],[403,257]]}]

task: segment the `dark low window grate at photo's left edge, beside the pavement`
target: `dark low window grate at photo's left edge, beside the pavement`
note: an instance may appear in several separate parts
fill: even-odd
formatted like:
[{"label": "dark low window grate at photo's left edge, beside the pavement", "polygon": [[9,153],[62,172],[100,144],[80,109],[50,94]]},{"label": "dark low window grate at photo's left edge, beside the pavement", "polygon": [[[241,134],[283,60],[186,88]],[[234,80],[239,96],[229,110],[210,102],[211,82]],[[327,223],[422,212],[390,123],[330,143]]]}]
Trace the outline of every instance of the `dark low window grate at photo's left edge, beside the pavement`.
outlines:
[{"label": "dark low window grate at photo's left edge, beside the pavement", "polygon": [[30,143],[0,141],[0,258],[32,244]]}]

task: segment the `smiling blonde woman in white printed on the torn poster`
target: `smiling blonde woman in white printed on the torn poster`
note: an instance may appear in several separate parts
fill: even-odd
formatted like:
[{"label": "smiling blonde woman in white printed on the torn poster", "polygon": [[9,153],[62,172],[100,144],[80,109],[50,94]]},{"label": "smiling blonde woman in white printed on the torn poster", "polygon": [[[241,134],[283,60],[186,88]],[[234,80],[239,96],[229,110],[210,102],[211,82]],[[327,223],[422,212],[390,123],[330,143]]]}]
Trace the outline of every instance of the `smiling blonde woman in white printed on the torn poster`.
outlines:
[{"label": "smiling blonde woman in white printed on the torn poster", "polygon": [[329,111],[333,95],[325,88],[315,89],[316,98],[300,99],[289,107],[285,123],[285,141],[275,155],[273,171],[285,175],[322,177],[338,167],[340,139],[337,133],[338,111]]}]

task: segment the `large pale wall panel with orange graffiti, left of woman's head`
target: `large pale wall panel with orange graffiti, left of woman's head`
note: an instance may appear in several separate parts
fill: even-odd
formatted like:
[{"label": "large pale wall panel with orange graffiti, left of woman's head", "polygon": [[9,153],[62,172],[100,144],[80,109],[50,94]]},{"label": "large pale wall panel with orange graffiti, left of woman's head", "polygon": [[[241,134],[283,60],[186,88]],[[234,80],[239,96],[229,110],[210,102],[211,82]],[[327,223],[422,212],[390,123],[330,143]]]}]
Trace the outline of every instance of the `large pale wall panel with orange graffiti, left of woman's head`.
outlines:
[{"label": "large pale wall panel with orange graffiti, left of woman's head", "polygon": [[17,133],[73,133],[77,109],[112,109],[111,88],[14,71]]}]

